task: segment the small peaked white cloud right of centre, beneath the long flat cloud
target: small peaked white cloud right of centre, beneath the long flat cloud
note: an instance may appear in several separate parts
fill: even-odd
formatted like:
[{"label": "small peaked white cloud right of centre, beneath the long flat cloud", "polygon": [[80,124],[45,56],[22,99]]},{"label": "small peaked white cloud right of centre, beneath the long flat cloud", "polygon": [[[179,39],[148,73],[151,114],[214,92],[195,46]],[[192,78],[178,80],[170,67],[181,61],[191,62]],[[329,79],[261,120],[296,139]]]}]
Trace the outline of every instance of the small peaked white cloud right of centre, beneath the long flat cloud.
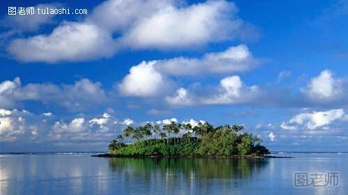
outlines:
[{"label": "small peaked white cloud right of centre, beneath the long flat cloud", "polygon": [[203,98],[203,104],[235,104],[249,102],[258,95],[257,86],[246,86],[239,76],[221,79],[217,95]]}]

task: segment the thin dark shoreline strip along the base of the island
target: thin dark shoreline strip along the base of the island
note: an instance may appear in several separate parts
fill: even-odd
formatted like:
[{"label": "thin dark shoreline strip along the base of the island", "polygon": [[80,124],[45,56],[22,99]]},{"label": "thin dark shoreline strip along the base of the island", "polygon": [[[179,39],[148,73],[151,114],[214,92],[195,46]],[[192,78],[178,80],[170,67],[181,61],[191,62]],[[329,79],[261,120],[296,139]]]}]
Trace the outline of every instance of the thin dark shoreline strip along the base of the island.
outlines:
[{"label": "thin dark shoreline strip along the base of the island", "polygon": [[97,155],[90,155],[91,157],[105,157],[105,158],[219,158],[219,159],[267,159],[267,158],[294,158],[294,157],[276,157],[273,155],[266,155],[266,156],[240,156],[240,155],[234,155],[234,156],[228,156],[228,157],[207,157],[207,156],[121,156],[121,155],[111,155],[110,153],[104,153],[104,154],[97,154]]}]

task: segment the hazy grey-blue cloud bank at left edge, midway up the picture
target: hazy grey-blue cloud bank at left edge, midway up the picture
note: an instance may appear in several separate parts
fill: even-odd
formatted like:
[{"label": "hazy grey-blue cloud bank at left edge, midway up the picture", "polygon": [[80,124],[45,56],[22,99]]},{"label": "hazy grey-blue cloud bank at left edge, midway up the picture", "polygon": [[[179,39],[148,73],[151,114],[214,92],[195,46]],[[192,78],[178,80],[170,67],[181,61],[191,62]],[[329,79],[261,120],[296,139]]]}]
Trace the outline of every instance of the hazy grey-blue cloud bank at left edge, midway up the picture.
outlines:
[{"label": "hazy grey-blue cloud bank at left edge, midway up the picture", "polygon": [[106,101],[99,82],[81,79],[74,84],[26,84],[19,78],[0,83],[0,107],[14,108],[19,102],[37,100],[60,104],[71,111],[81,111]]}]

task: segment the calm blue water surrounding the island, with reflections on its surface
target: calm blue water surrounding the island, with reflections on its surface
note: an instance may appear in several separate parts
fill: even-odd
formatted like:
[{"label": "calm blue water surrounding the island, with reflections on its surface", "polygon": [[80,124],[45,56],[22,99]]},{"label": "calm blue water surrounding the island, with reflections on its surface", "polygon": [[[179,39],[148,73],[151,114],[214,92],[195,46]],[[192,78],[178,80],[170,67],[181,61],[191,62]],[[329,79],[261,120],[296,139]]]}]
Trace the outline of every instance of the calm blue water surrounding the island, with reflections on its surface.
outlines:
[{"label": "calm blue water surrounding the island, with reflections on its surface", "polygon": [[[295,158],[0,155],[0,194],[348,194],[348,154],[283,155]],[[340,185],[295,188],[295,171],[339,171]]]}]

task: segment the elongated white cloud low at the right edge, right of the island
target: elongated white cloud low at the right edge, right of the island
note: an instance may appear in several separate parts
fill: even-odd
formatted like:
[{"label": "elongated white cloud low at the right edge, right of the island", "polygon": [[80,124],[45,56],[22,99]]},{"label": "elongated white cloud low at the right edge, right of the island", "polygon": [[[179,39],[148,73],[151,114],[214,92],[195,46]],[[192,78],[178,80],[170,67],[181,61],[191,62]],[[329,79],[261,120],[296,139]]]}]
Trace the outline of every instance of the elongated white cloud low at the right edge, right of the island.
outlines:
[{"label": "elongated white cloud low at the right edge, right of the island", "polygon": [[327,111],[312,111],[297,114],[292,117],[288,123],[282,123],[280,127],[285,130],[328,130],[333,121],[343,118],[345,111],[343,109],[331,109]]}]

